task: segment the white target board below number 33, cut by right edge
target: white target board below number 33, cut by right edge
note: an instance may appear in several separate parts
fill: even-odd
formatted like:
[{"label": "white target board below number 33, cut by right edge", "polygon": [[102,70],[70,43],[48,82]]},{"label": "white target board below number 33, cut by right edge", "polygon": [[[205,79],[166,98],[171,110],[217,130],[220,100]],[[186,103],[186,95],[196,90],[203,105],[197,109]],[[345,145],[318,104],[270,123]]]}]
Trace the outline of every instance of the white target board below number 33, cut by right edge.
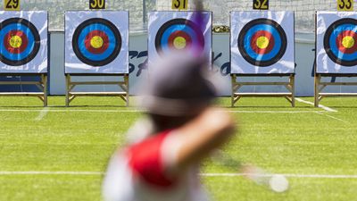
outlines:
[{"label": "white target board below number 33, cut by right edge", "polygon": [[316,15],[316,72],[357,74],[357,13]]}]

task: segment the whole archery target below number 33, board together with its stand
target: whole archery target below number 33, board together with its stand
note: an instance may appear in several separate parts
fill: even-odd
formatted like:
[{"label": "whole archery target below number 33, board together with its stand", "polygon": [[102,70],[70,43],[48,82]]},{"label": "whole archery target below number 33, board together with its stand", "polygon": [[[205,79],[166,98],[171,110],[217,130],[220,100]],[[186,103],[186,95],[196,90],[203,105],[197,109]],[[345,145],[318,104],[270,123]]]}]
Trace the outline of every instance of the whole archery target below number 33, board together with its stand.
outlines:
[{"label": "whole archery target below number 33, board together with its stand", "polygon": [[357,93],[324,93],[328,86],[357,86],[357,82],[323,81],[357,77],[357,13],[317,12],[314,63],[314,105],[324,97]]}]

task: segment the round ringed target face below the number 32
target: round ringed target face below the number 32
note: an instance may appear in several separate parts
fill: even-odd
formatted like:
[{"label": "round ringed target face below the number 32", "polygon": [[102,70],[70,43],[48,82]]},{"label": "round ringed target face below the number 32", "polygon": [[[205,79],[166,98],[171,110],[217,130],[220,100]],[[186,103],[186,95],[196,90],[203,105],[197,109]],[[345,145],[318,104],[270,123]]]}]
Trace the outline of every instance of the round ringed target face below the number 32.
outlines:
[{"label": "round ringed target face below the number 32", "polygon": [[266,67],[286,53],[286,33],[276,21],[256,19],[245,24],[238,36],[238,49],[246,62]]}]

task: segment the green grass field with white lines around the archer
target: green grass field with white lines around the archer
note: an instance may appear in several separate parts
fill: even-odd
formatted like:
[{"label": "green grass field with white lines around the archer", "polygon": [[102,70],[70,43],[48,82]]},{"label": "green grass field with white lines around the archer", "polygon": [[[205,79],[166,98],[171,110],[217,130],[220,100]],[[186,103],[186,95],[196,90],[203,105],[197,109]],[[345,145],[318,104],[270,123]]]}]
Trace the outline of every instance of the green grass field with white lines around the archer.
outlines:
[{"label": "green grass field with white lines around the archer", "polygon": [[[336,112],[292,108],[283,98],[245,98],[229,108],[230,99],[220,98],[240,127],[225,152],[294,175],[283,194],[239,176],[203,177],[214,200],[357,200],[356,99],[321,104]],[[63,96],[50,96],[45,109],[33,97],[0,97],[0,200],[101,200],[101,172],[141,113],[113,97],[62,105]],[[235,171],[207,161],[202,172]]]}]

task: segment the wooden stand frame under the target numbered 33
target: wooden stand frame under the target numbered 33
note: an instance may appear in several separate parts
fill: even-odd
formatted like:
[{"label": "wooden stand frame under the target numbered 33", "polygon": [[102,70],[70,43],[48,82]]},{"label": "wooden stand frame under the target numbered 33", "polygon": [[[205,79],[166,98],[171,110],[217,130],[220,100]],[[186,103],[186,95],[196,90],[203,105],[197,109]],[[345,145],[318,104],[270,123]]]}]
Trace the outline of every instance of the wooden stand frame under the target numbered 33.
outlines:
[{"label": "wooden stand frame under the target numbered 33", "polygon": [[357,86],[357,82],[325,82],[322,77],[357,77],[355,74],[319,74],[315,73],[314,104],[319,107],[320,101],[324,97],[336,96],[357,96],[357,93],[322,93],[322,90],[328,86]]}]

